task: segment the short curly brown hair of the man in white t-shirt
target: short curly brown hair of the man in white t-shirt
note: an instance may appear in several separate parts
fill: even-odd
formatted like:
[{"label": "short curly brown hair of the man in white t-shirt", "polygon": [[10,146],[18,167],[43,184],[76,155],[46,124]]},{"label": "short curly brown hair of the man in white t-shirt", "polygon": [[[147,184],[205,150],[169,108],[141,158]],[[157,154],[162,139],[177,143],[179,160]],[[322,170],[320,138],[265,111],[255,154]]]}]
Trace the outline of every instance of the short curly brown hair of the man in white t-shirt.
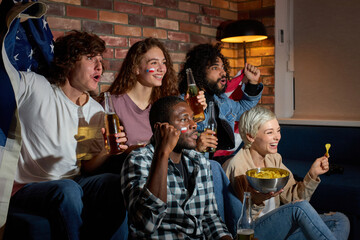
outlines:
[{"label": "short curly brown hair of the man in white t-shirt", "polygon": [[[54,44],[54,59],[49,71],[45,74],[50,83],[63,86],[69,73],[75,68],[75,63],[82,56],[94,57],[103,54],[105,41],[99,36],[73,30],[65,36],[56,39]],[[104,72],[104,65],[103,72]]]}]

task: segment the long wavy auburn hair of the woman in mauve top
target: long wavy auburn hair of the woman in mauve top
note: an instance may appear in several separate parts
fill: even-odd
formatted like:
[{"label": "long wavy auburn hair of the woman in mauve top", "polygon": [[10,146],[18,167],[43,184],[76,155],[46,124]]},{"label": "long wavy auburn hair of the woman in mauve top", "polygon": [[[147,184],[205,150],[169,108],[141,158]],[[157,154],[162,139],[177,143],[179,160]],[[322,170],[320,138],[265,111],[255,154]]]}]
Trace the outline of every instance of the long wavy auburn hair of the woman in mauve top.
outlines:
[{"label": "long wavy auburn hair of the woman in mauve top", "polygon": [[[121,65],[120,71],[114,82],[109,88],[112,95],[120,95],[129,92],[135,87],[137,82],[136,69],[139,67],[140,62],[144,55],[153,47],[158,47],[163,52],[166,59],[167,71],[163,77],[162,85],[153,87],[150,96],[150,104],[154,103],[161,97],[179,95],[178,81],[170,54],[164,45],[155,38],[146,38],[142,41],[136,42],[131,46],[126,57]],[[100,98],[102,100],[102,97]]]}]

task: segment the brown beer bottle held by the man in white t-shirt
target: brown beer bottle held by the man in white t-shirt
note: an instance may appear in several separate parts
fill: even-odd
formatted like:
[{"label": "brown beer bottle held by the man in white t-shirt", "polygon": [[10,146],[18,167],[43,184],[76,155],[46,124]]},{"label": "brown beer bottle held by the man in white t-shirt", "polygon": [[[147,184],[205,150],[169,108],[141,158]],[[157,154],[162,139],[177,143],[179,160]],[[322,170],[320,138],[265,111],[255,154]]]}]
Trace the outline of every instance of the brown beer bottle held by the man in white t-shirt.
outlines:
[{"label": "brown beer bottle held by the man in white t-shirt", "polygon": [[105,96],[105,130],[106,130],[106,149],[110,154],[122,152],[120,143],[116,142],[118,137],[115,133],[121,132],[119,117],[115,113],[113,102],[109,92],[104,93]]}]

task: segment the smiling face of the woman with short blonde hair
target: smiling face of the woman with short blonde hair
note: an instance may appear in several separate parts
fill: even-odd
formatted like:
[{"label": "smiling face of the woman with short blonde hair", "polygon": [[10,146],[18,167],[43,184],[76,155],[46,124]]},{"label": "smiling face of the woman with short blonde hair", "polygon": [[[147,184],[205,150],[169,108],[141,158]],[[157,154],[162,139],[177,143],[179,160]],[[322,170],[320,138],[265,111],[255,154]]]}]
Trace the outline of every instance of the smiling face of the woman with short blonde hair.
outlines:
[{"label": "smiling face of the woman with short blonde hair", "polygon": [[280,126],[276,118],[262,124],[255,138],[247,136],[252,142],[250,149],[255,150],[261,156],[269,153],[277,153],[278,143],[281,139]]}]

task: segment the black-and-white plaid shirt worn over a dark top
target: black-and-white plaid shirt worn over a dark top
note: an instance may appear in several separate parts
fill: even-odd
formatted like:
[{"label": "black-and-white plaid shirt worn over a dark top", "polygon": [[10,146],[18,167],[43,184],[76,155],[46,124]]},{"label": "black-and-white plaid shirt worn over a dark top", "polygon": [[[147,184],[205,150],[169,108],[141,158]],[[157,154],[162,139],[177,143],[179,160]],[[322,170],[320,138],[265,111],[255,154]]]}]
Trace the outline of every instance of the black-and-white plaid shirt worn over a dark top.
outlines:
[{"label": "black-and-white plaid shirt worn over a dark top", "polygon": [[189,171],[189,190],[169,159],[165,203],[144,186],[153,155],[151,144],[136,149],[122,168],[121,188],[129,212],[131,235],[136,239],[220,239],[231,236],[217,210],[210,163],[206,158],[194,150],[183,150]]}]

